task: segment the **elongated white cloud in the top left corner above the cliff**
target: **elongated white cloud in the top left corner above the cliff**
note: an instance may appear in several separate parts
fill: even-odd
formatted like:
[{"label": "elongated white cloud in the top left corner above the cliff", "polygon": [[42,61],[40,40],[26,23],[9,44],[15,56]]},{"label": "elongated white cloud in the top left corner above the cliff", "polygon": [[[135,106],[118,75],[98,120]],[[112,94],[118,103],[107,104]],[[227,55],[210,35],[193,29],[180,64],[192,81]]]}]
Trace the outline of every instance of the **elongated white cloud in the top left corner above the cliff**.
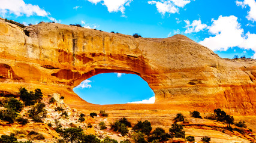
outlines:
[{"label": "elongated white cloud in the top left corner above the cliff", "polygon": [[25,14],[28,17],[31,15],[43,17],[49,15],[49,13],[38,7],[38,5],[25,4],[23,0],[1,0],[0,14],[15,14],[17,16]]}]

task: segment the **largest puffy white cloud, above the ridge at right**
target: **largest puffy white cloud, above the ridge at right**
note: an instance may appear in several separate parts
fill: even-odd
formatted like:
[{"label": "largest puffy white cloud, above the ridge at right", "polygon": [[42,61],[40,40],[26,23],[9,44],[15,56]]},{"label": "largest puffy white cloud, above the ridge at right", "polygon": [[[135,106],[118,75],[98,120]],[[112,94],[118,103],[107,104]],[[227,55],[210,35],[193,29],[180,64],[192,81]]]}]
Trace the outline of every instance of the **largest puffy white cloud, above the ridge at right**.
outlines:
[{"label": "largest puffy white cloud, above the ridge at right", "polygon": [[[207,46],[213,51],[227,51],[228,48],[239,47],[243,49],[252,49],[256,52],[256,35],[251,33],[243,33],[237,17],[231,15],[229,17],[219,16],[218,20],[212,20],[213,23],[208,27],[209,33],[215,36],[205,38],[199,42],[201,45]],[[256,58],[256,55],[254,55]]]}]

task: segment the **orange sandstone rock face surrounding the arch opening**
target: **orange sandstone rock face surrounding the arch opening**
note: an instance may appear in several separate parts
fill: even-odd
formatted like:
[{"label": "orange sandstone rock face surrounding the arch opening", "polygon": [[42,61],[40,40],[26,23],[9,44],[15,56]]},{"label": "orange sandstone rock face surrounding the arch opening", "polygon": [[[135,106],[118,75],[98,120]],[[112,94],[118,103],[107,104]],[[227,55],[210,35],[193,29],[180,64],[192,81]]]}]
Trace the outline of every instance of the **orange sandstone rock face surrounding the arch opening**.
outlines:
[{"label": "orange sandstone rock face surrounding the arch opening", "polygon": [[255,60],[219,58],[183,35],[133,38],[57,23],[25,29],[0,20],[0,91],[41,88],[76,107],[89,104],[72,90],[83,80],[134,73],[153,89],[157,104],[256,113]]}]

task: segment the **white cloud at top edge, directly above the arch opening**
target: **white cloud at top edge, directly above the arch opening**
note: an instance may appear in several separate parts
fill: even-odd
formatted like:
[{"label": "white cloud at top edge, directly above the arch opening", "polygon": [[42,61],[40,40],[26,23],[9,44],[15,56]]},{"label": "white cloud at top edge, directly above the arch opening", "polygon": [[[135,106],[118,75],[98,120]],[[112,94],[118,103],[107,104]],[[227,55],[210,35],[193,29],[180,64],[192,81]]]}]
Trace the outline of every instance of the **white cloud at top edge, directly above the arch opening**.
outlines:
[{"label": "white cloud at top edge, directly above the arch opening", "polygon": [[93,4],[98,4],[101,2],[102,5],[106,5],[107,10],[110,13],[121,11],[122,14],[125,13],[125,6],[129,6],[132,0],[88,0]]}]

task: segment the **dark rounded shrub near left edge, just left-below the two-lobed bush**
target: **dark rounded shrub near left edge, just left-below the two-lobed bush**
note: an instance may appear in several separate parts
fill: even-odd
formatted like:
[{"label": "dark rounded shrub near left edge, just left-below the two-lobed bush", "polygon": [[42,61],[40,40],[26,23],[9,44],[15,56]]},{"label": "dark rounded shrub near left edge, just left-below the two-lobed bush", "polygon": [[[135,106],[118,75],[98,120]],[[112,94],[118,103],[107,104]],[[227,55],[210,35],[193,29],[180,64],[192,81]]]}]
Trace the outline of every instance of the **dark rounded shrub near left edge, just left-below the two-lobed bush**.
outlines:
[{"label": "dark rounded shrub near left edge, just left-below the two-lobed bush", "polygon": [[10,97],[7,99],[7,101],[5,101],[4,107],[12,108],[14,111],[20,112],[22,111],[23,104],[19,100],[16,100],[15,98]]}]

